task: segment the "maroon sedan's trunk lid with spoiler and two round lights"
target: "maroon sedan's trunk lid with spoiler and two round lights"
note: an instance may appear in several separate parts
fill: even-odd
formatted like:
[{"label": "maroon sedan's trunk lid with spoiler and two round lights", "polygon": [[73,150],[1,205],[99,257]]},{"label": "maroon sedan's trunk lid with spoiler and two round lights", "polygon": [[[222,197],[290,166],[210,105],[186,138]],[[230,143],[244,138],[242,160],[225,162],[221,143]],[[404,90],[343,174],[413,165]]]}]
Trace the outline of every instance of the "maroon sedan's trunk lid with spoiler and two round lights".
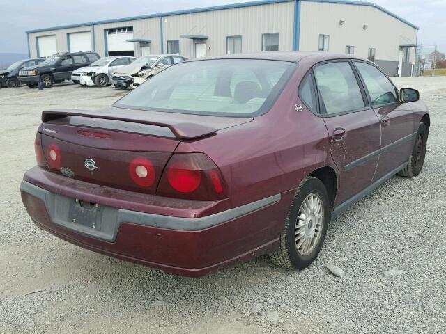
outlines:
[{"label": "maroon sedan's trunk lid with spoiler and two round lights", "polygon": [[[166,115],[167,114],[167,115]],[[130,109],[44,111],[41,145],[54,173],[142,193],[156,193],[182,140],[196,140],[252,118],[221,118]]]}]

